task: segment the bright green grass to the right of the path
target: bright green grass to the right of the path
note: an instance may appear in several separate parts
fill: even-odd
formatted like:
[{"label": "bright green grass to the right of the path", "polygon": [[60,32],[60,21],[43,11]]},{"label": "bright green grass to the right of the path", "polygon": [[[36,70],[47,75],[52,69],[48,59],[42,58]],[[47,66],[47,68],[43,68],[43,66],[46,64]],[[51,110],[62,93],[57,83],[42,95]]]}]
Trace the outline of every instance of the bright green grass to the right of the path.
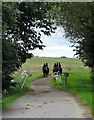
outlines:
[{"label": "bright green grass to the right of the path", "polygon": [[71,92],[76,95],[85,106],[87,106],[94,115],[94,107],[92,105],[92,81],[90,80],[89,70],[74,70],[69,71],[68,82],[65,84],[62,76],[62,84],[51,80],[49,85],[56,89]]}]

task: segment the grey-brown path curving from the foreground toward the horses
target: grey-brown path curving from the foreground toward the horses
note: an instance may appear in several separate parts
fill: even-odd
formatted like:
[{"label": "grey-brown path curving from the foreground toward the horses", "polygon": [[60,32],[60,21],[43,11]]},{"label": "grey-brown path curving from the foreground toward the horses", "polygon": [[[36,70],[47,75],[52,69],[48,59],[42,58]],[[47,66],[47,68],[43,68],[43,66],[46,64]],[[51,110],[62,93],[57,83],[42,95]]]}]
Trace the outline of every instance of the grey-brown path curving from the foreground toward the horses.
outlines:
[{"label": "grey-brown path curving from the foreground toward the horses", "polygon": [[48,86],[51,77],[31,82],[26,93],[3,111],[3,118],[90,118],[88,110],[67,92]]}]

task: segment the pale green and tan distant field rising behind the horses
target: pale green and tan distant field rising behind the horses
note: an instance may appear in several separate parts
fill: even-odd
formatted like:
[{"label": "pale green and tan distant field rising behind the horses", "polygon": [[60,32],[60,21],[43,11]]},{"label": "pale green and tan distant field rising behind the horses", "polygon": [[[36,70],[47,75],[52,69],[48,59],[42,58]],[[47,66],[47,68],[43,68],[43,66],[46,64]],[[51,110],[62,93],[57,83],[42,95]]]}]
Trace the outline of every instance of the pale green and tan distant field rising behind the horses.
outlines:
[{"label": "pale green and tan distant field rising behind the horses", "polygon": [[63,71],[87,69],[87,67],[84,67],[83,63],[76,58],[34,57],[28,59],[26,63],[22,65],[22,68],[15,74],[19,75],[23,70],[27,70],[30,73],[42,72],[42,66],[46,62],[49,65],[50,73],[52,73],[53,64],[55,62],[61,63]]}]

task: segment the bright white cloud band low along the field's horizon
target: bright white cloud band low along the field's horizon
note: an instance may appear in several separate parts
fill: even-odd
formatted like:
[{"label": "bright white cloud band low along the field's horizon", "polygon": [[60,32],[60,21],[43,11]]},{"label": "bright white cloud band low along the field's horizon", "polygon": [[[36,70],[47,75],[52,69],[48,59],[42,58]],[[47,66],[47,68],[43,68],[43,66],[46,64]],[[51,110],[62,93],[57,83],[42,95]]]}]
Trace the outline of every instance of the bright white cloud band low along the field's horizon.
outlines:
[{"label": "bright white cloud band low along the field's horizon", "polygon": [[73,57],[75,52],[73,52],[73,49],[70,47],[66,46],[50,46],[50,47],[45,47],[44,50],[34,50],[33,54],[35,56],[46,56],[46,57],[61,57],[61,56],[66,56],[66,57]]}]

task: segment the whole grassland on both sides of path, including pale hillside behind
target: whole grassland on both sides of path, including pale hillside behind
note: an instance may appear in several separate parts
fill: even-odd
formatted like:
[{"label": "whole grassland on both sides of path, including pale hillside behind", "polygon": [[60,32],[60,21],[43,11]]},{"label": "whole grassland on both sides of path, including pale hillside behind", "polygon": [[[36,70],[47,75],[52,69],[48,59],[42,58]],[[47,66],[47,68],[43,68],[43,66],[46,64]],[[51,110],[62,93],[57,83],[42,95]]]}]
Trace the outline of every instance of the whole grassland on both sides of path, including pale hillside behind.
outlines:
[{"label": "whole grassland on both sides of path, including pale hillside behind", "polygon": [[26,63],[22,65],[22,68],[13,74],[15,81],[18,81],[19,75],[23,70],[28,71],[32,76],[26,81],[23,90],[20,90],[20,86],[18,85],[17,88],[11,88],[8,94],[3,95],[3,108],[8,106],[25,92],[31,90],[29,85],[30,81],[42,77],[42,66],[46,62],[50,68],[50,75],[52,74],[53,64],[55,62],[60,62],[63,72],[69,73],[67,84],[65,84],[64,81],[62,85],[57,84],[52,80],[49,85],[56,89],[72,92],[77,96],[78,100],[82,101],[83,104],[92,110],[92,82],[90,80],[89,68],[84,67],[83,63],[79,59],[46,57],[34,57],[32,59],[28,59]]}]

